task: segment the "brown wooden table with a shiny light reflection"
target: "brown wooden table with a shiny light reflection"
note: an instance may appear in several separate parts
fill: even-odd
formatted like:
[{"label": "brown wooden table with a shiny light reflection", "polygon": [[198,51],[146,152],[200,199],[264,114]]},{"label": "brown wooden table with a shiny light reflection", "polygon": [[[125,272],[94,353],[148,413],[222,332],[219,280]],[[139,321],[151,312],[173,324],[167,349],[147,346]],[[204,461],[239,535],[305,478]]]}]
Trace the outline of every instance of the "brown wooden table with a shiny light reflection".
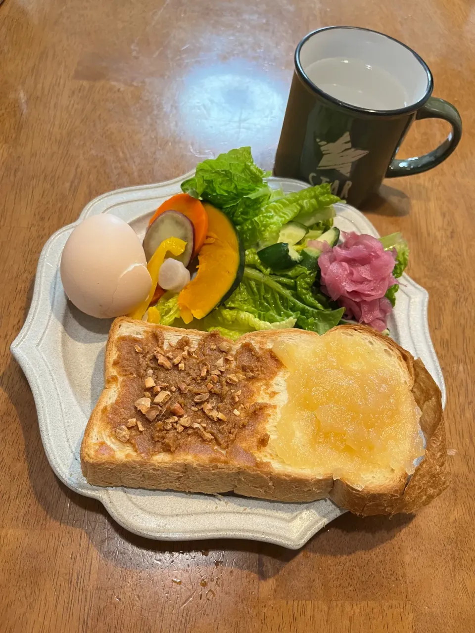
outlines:
[{"label": "brown wooden table with a shiny light reflection", "polygon": [[[462,142],[391,180],[369,218],[403,231],[447,382],[450,489],[417,516],[345,515],[300,551],[153,542],[53,475],[9,344],[47,237],[92,197],[251,144],[272,166],[296,43],[334,23],[414,47]],[[475,631],[475,16],[467,0],[6,0],[0,8],[0,630]],[[447,134],[418,122],[402,153]],[[453,454],[452,454],[453,453]]]}]

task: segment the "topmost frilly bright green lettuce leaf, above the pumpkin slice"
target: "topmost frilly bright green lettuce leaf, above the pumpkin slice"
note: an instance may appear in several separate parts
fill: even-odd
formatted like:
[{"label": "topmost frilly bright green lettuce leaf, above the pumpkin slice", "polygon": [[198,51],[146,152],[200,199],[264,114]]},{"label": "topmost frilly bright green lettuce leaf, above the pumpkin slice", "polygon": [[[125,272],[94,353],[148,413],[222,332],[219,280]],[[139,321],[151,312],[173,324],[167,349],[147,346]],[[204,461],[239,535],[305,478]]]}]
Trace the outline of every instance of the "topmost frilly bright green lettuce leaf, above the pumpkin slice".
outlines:
[{"label": "topmost frilly bright green lettuce leaf, above the pumpkin slice", "polygon": [[272,191],[263,180],[266,175],[255,165],[251,148],[239,147],[199,163],[196,174],[182,182],[181,188],[222,209],[239,225],[269,201]]}]

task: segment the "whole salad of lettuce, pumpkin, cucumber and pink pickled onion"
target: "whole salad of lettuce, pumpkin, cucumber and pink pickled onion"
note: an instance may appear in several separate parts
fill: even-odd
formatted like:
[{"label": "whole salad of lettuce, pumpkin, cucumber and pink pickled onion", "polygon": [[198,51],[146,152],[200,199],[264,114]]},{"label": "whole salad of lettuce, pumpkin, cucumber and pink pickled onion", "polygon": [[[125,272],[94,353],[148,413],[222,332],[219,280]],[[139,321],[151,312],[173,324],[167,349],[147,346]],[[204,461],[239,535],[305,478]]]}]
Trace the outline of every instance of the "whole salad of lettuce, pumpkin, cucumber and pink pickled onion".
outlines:
[{"label": "whole salad of lettuce, pumpkin, cucumber and pink pickled onion", "polygon": [[284,194],[268,175],[250,147],[196,167],[149,222],[152,288],[129,316],[231,339],[291,327],[324,334],[345,320],[386,330],[407,242],[343,234],[328,184]]}]

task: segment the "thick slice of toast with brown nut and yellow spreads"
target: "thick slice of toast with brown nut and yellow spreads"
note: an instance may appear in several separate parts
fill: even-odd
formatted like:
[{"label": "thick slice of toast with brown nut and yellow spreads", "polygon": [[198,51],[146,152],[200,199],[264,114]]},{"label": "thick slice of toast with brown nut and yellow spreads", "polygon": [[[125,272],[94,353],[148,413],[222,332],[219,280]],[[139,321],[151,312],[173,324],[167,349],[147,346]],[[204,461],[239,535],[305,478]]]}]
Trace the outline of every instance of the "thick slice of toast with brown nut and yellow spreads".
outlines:
[{"label": "thick slice of toast with brown nut and yellow spreads", "polygon": [[448,485],[440,390],[375,330],[217,332],[113,323],[85,429],[96,486],[330,498],[410,512]]}]

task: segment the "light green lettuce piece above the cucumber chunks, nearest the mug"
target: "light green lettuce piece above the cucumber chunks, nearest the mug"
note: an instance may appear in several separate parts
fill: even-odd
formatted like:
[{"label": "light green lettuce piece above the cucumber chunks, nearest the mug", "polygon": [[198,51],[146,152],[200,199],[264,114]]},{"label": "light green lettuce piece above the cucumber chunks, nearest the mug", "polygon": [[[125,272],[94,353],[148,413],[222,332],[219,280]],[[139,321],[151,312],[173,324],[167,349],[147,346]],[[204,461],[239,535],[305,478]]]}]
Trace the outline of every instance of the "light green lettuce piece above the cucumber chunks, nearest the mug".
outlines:
[{"label": "light green lettuce piece above the cucumber chunks, nearest the mug", "polygon": [[317,216],[319,221],[333,218],[332,204],[339,198],[331,193],[328,184],[308,187],[265,204],[258,215],[238,227],[244,247],[257,246],[258,249],[275,244],[279,240],[282,227],[300,216],[304,220]]}]

